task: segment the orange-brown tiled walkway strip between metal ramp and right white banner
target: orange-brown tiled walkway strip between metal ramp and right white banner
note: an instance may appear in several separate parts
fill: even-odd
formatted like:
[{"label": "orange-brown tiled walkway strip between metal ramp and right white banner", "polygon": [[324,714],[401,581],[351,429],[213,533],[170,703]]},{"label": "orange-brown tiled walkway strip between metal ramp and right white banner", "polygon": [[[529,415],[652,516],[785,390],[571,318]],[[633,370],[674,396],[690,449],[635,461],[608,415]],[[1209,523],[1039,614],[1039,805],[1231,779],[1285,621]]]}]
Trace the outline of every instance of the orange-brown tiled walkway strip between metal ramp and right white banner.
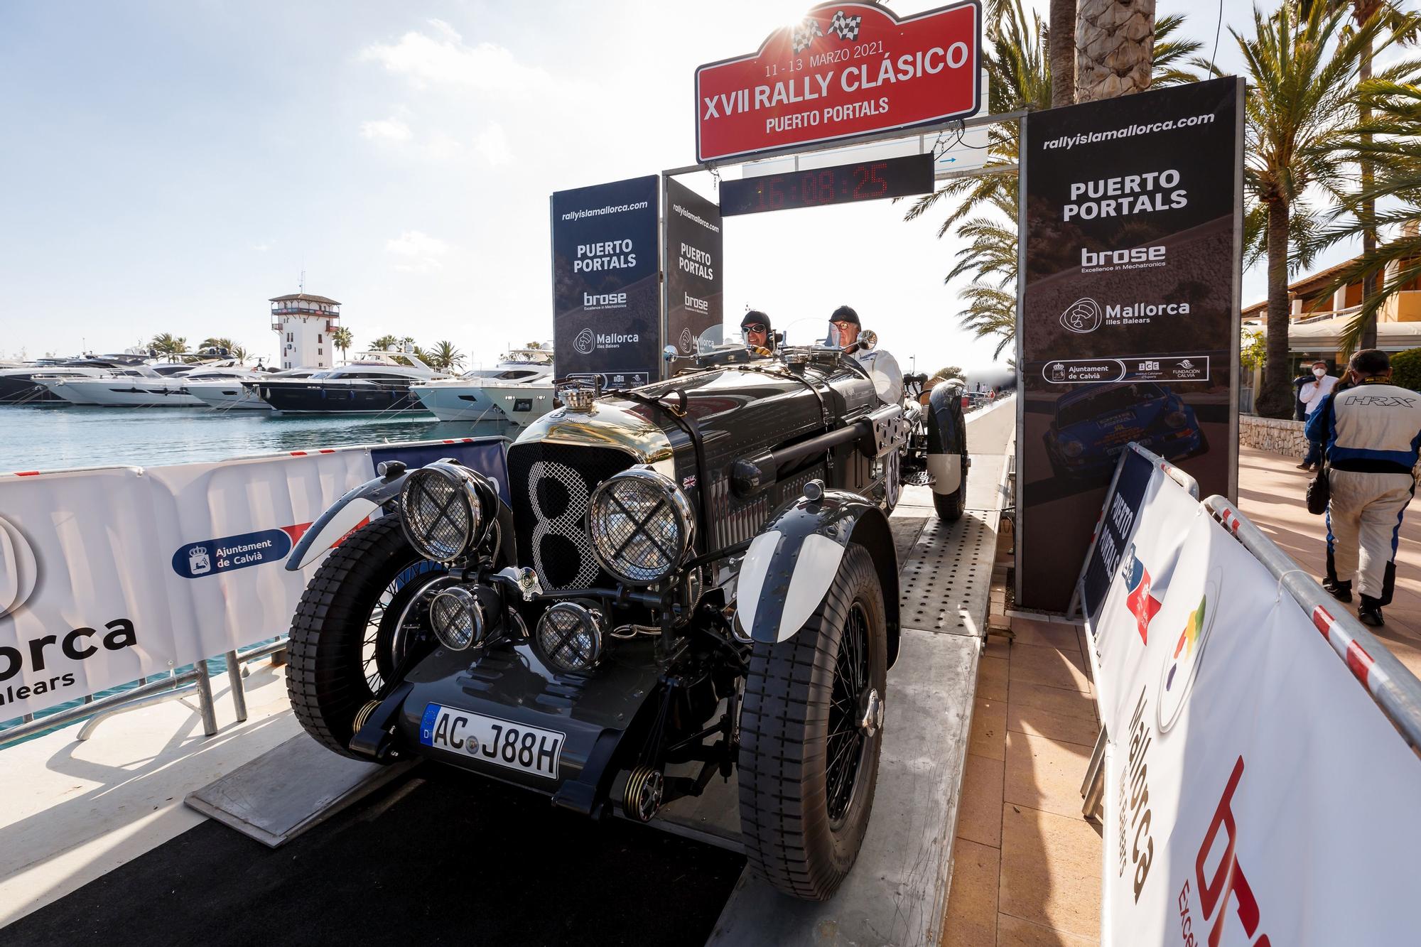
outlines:
[{"label": "orange-brown tiled walkway strip between metal ramp and right white banner", "polygon": [[979,664],[941,944],[1096,944],[1101,840],[1080,783],[1100,724],[1083,633],[1007,619],[993,586],[990,623],[1016,637],[990,636]]}]

